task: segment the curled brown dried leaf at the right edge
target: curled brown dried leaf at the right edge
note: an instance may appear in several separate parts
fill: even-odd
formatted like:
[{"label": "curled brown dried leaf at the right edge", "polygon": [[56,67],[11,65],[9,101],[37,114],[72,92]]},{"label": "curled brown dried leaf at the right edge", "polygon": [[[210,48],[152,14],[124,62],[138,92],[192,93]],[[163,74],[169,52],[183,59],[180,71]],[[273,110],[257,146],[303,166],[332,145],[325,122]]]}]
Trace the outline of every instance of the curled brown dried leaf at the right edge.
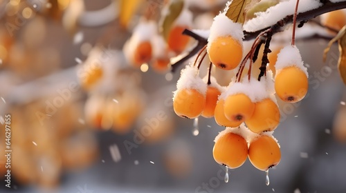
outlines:
[{"label": "curled brown dried leaf at the right edge", "polygon": [[346,85],[346,26],[344,26],[334,37],[329,41],[327,48],[323,54],[323,61],[325,61],[327,57],[327,53],[329,52],[331,45],[338,41],[339,48],[339,60],[338,60],[338,70],[340,72],[341,79],[343,79],[344,84]]}]

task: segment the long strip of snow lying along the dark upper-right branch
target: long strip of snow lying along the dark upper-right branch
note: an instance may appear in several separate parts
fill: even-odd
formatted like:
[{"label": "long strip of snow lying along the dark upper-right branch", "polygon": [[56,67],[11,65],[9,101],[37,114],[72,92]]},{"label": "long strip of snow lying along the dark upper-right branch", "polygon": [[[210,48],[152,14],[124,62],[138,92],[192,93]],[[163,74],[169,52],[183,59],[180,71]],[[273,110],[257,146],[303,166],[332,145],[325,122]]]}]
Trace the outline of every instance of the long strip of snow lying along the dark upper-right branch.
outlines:
[{"label": "long strip of snow lying along the dark upper-right branch", "polygon": [[[334,0],[338,1],[338,0]],[[276,6],[268,8],[266,12],[258,12],[257,17],[250,19],[244,24],[244,30],[247,32],[255,32],[262,28],[273,26],[277,21],[283,19],[287,15],[294,14],[295,4],[297,0],[288,0],[278,3]],[[304,0],[299,1],[298,14],[300,12],[307,12],[322,6],[318,0]]]}]

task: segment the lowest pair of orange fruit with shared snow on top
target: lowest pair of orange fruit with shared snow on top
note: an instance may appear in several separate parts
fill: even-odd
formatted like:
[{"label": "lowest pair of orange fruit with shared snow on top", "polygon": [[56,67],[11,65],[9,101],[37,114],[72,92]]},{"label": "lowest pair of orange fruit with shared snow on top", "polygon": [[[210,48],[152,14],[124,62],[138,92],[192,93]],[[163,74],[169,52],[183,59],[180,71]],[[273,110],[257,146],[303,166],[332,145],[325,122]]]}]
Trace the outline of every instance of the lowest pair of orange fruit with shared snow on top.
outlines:
[{"label": "lowest pair of orange fruit with shared snow on top", "polygon": [[267,171],[281,159],[280,145],[272,132],[255,134],[244,124],[220,132],[212,154],[217,163],[230,169],[240,167],[248,157],[258,170]]}]

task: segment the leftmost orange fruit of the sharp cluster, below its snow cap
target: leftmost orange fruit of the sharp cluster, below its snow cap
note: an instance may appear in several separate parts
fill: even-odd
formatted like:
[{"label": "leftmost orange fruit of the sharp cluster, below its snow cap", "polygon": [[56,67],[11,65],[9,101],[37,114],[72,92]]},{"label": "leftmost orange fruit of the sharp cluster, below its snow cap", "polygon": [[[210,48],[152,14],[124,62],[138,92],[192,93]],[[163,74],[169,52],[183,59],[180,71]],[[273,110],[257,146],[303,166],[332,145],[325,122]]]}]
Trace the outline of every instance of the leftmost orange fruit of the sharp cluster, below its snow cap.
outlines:
[{"label": "leftmost orange fruit of the sharp cluster, below its snow cap", "polygon": [[176,92],[173,99],[174,112],[181,117],[197,118],[206,106],[206,97],[198,90],[183,88]]}]

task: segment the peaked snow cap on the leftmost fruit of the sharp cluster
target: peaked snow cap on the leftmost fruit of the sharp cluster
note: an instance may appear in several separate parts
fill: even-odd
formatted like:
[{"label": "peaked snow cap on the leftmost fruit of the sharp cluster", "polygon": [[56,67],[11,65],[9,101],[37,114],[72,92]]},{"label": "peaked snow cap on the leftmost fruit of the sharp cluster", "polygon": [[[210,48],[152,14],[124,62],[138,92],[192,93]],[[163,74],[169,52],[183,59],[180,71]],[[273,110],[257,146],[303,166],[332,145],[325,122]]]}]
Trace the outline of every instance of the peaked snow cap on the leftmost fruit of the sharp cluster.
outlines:
[{"label": "peaked snow cap on the leftmost fruit of the sharp cluster", "polygon": [[176,92],[183,88],[195,89],[203,96],[206,96],[207,84],[199,77],[199,71],[196,66],[187,65],[183,70],[181,70],[180,79],[176,83]]}]

